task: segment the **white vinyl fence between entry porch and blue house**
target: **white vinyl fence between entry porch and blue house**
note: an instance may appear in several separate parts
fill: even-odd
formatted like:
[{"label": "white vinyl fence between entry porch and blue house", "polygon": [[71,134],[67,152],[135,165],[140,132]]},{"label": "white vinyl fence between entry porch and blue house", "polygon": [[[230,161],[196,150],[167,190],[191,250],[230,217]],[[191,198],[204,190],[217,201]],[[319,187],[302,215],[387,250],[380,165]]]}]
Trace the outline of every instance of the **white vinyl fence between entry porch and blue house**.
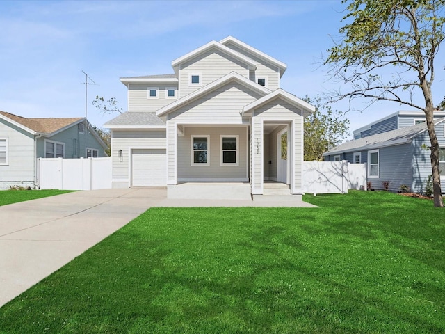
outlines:
[{"label": "white vinyl fence between entry porch and blue house", "polygon": [[366,164],[348,161],[304,161],[305,193],[347,193],[348,189],[366,189]]}]

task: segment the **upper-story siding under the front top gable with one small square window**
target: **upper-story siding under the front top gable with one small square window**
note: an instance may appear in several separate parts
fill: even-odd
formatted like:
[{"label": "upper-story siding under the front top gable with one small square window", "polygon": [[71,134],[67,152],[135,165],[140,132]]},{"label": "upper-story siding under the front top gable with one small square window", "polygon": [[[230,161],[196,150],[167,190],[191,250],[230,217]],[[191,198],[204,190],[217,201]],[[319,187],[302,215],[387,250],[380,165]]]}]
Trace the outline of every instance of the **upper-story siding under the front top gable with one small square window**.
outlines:
[{"label": "upper-story siding under the front top gable with one small square window", "polygon": [[[208,50],[181,64],[181,70],[179,70],[179,95],[184,97],[207,84],[211,84],[216,79],[224,77],[230,72],[237,72],[246,78],[249,77],[247,64],[222,51]],[[200,74],[201,84],[199,86],[189,84],[190,74]]]}]

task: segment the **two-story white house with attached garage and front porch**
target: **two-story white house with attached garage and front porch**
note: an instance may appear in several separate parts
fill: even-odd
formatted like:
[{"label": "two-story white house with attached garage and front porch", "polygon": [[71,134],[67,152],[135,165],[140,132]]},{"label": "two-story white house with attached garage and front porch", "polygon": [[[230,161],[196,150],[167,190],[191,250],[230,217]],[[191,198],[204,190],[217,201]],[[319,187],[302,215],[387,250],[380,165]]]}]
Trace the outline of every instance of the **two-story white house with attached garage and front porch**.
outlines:
[{"label": "two-story white house with attached garage and front porch", "polygon": [[104,125],[114,188],[249,182],[261,195],[264,180],[274,180],[302,195],[303,118],[315,109],[280,89],[286,64],[227,37],[172,67],[172,74],[120,79],[127,112]]}]

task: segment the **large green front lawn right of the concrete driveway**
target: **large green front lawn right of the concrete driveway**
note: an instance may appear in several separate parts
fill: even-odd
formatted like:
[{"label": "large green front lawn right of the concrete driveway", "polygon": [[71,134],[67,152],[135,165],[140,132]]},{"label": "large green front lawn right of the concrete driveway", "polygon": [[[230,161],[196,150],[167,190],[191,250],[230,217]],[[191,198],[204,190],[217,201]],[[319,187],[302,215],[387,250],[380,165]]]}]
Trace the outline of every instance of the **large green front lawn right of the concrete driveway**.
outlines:
[{"label": "large green front lawn right of the concrete driveway", "polygon": [[154,208],[0,309],[1,333],[445,333],[445,211]]}]

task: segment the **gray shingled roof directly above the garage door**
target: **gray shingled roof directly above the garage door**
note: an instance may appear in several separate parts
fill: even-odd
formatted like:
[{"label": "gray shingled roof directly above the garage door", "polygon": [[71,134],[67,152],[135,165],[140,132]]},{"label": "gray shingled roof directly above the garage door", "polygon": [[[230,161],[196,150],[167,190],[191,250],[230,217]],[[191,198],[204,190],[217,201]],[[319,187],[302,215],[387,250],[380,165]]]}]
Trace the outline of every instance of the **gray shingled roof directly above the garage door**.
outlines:
[{"label": "gray shingled roof directly above the garage door", "polygon": [[156,116],[156,113],[127,111],[112,120],[108,120],[104,127],[108,129],[154,129],[157,127],[165,128],[165,122]]}]

